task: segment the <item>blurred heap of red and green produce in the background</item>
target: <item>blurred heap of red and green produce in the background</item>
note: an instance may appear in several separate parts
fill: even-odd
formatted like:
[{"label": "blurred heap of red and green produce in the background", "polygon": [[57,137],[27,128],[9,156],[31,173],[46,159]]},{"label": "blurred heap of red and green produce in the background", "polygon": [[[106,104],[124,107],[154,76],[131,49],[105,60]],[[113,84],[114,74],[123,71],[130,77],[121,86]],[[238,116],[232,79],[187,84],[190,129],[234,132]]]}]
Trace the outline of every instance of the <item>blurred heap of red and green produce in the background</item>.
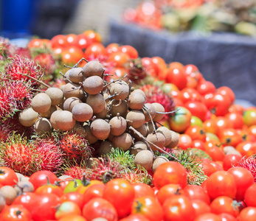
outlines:
[{"label": "blurred heap of red and green produce in the background", "polygon": [[171,32],[236,32],[256,36],[253,0],[142,1],[123,13],[125,21]]}]

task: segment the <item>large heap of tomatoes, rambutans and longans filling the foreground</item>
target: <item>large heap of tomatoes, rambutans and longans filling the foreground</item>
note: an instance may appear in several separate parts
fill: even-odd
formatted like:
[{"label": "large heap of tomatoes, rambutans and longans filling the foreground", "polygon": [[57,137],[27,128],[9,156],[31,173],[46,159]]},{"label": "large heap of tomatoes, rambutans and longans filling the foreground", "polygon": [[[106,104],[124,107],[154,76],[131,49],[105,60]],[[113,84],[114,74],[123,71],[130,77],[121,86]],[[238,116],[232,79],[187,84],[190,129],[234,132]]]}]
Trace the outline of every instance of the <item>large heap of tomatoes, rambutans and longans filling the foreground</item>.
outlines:
[{"label": "large heap of tomatoes, rambutans and longans filling the foreground", "polygon": [[0,60],[0,220],[255,220],[256,108],[193,64],[92,30]]}]

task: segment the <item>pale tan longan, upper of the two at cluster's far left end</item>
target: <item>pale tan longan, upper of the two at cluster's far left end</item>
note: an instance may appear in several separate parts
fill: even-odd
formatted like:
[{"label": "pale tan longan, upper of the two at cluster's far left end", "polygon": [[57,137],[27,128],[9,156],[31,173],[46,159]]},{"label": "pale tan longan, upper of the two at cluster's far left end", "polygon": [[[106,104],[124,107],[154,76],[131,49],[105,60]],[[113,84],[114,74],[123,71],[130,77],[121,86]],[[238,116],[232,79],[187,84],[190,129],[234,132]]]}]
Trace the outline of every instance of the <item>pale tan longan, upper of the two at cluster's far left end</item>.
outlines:
[{"label": "pale tan longan, upper of the two at cluster's far left end", "polygon": [[44,113],[51,108],[52,100],[46,93],[36,94],[31,100],[31,107],[35,112]]}]

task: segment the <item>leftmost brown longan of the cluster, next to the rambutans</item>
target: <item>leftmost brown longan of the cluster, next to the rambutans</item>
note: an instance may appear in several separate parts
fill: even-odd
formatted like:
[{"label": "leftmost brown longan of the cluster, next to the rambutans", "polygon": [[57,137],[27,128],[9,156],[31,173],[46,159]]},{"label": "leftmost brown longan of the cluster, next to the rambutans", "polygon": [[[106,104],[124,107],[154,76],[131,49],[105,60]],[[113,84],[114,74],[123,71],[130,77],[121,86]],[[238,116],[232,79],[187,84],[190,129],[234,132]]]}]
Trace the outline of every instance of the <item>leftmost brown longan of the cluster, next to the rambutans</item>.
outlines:
[{"label": "leftmost brown longan of the cluster, next to the rambutans", "polygon": [[38,112],[35,112],[32,108],[28,108],[18,113],[18,122],[24,127],[31,127],[38,119],[38,116]]}]

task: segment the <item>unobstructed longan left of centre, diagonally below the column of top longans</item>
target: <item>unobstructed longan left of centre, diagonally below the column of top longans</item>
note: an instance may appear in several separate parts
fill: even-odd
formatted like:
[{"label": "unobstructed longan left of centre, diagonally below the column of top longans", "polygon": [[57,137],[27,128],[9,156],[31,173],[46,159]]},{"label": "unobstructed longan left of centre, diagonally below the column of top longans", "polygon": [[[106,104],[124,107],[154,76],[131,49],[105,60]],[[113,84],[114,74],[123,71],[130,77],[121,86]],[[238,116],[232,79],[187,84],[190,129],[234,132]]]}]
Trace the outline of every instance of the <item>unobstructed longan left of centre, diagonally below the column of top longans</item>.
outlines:
[{"label": "unobstructed longan left of centre, diagonally below the column of top longans", "polygon": [[72,114],[77,122],[86,122],[91,119],[93,110],[91,106],[86,103],[78,103],[72,108]]}]

